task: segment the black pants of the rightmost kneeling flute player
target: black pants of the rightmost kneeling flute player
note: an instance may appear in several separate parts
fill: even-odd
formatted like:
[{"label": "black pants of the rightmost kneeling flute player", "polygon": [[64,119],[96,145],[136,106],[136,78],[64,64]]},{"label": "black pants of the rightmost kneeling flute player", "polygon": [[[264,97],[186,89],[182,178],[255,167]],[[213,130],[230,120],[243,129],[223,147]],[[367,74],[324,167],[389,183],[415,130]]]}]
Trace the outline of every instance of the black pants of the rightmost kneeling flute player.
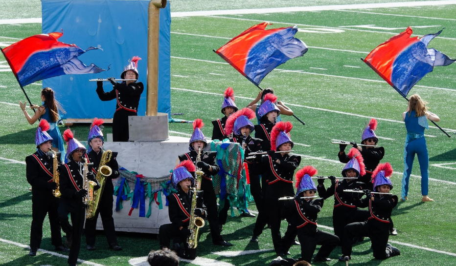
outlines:
[{"label": "black pants of the rightmost kneeling flute player", "polygon": [[[342,254],[344,256],[351,255],[353,237],[369,237],[372,242],[374,258],[378,260],[388,259],[393,253],[391,248],[387,248],[389,238],[389,225],[380,225],[377,221],[367,221],[362,223],[352,223],[345,226],[344,242],[342,243]],[[375,224],[379,224],[374,226]]]}]

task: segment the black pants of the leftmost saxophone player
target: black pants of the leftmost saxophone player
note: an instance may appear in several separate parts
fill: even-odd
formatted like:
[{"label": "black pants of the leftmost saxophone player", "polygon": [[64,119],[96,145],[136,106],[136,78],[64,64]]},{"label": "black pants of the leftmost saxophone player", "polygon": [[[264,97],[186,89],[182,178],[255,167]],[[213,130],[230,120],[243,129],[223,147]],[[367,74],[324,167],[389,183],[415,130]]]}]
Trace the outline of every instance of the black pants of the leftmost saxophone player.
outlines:
[{"label": "black pants of the leftmost saxophone player", "polygon": [[52,195],[52,190],[32,188],[32,225],[30,227],[30,247],[40,248],[43,238],[43,222],[46,214],[51,227],[51,244],[62,245],[59,216],[57,208],[59,199]]}]

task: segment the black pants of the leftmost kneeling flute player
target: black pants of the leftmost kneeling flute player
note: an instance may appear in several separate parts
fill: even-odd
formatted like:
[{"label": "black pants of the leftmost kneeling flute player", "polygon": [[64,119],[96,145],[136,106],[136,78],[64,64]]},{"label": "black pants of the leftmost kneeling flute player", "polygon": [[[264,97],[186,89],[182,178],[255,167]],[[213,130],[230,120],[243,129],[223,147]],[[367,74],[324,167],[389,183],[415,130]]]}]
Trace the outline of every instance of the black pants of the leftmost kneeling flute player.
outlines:
[{"label": "black pants of the leftmost kneeling flute player", "polygon": [[339,244],[340,240],[336,235],[320,231],[319,229],[317,229],[317,232],[309,234],[304,227],[297,229],[297,239],[301,243],[300,260],[310,262],[317,245],[321,247],[316,257],[327,258],[331,254],[331,251]]}]

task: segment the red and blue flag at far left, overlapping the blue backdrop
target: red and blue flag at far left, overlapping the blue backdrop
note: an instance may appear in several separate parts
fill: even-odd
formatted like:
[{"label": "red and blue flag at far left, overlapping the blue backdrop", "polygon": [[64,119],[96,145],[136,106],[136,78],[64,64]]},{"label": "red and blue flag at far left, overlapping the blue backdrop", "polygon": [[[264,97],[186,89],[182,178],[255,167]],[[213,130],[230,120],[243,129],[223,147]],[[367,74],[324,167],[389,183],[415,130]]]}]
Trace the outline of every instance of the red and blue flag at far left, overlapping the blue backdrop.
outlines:
[{"label": "red and blue flag at far left, overlapping the blue backdrop", "polygon": [[38,34],[2,49],[21,86],[65,74],[89,74],[106,71],[94,64],[85,65],[77,57],[86,51],[75,44],[57,41],[63,32]]}]

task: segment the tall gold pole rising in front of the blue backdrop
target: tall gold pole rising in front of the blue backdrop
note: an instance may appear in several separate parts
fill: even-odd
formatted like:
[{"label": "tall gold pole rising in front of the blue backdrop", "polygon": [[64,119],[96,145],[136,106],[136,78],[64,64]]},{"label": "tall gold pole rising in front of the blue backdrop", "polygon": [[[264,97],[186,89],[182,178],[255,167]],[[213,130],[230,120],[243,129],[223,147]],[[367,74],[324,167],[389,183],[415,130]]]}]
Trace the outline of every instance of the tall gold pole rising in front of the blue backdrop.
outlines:
[{"label": "tall gold pole rising in front of the blue backdrop", "polygon": [[149,24],[147,37],[147,103],[146,116],[157,116],[159,92],[159,38],[160,8],[166,6],[166,0],[149,2]]}]

